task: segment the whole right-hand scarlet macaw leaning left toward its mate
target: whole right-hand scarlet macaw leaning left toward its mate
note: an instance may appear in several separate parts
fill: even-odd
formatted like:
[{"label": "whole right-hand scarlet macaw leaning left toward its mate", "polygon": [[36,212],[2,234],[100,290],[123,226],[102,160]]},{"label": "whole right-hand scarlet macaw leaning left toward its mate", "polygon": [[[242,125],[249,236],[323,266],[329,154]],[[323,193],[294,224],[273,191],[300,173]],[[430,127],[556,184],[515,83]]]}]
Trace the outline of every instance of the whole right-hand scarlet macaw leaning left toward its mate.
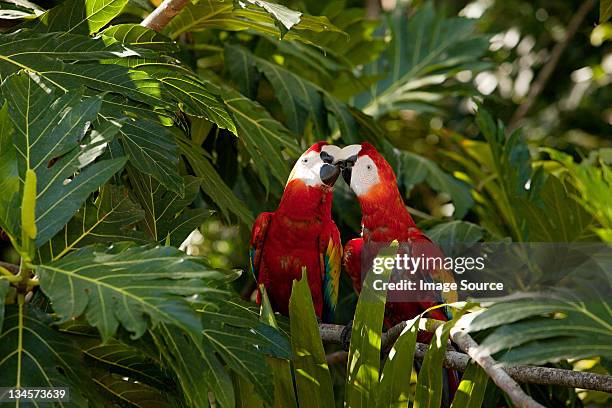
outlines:
[{"label": "whole right-hand scarlet macaw leaning left toward its mate", "polygon": [[[389,244],[394,240],[400,243],[399,251],[410,252],[412,257],[443,258],[442,251],[417,228],[397,188],[393,169],[385,158],[369,143],[350,145],[339,154],[339,166],[342,167],[342,177],[357,195],[361,206],[362,237],[352,239],[344,246],[343,263],[345,270],[353,281],[357,293],[361,290],[362,259],[371,262],[375,253],[365,253],[369,248],[364,245]],[[408,248],[407,248],[408,247]],[[372,248],[373,249],[373,248]],[[373,252],[367,250],[367,252]],[[404,252],[404,253],[405,253]],[[363,258],[362,258],[363,257]],[[369,269],[370,265],[367,265]],[[438,282],[453,282],[452,273],[445,269],[421,269],[420,274],[425,279]],[[409,301],[410,292],[403,293],[405,299],[387,302],[385,308],[385,325],[409,320],[426,309],[439,303],[452,303],[457,295],[453,292],[435,294],[436,298]],[[434,309],[428,316],[438,320],[451,317],[446,308]],[[421,341],[429,340],[420,336]],[[457,376],[449,372],[452,392],[457,386]]]}]

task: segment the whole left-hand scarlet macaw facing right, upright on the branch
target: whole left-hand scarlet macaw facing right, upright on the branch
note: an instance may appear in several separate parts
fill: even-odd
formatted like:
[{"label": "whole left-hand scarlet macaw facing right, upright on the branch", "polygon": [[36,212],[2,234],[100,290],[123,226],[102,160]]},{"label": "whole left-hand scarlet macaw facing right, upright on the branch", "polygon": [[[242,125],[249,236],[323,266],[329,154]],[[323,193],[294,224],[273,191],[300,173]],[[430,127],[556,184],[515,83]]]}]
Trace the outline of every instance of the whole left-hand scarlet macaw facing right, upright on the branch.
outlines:
[{"label": "whole left-hand scarlet macaw facing right, upright on the branch", "polygon": [[[342,261],[340,232],[331,217],[340,169],[337,146],[319,142],[295,163],[280,204],[259,214],[251,232],[251,269],[275,311],[288,314],[294,279],[306,267],[315,312],[330,322],[338,300]],[[260,302],[258,293],[257,302]]]}]

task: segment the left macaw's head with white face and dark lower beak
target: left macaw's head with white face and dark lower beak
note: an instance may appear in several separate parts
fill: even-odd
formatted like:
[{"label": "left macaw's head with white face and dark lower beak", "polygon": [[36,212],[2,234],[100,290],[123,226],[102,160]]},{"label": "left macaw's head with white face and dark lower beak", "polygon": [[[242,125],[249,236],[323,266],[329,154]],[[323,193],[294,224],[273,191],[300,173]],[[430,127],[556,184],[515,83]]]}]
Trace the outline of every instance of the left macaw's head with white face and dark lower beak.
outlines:
[{"label": "left macaw's head with white face and dark lower beak", "polygon": [[299,180],[309,187],[329,189],[340,176],[337,156],[338,146],[318,142],[306,150],[293,166],[287,185]]}]

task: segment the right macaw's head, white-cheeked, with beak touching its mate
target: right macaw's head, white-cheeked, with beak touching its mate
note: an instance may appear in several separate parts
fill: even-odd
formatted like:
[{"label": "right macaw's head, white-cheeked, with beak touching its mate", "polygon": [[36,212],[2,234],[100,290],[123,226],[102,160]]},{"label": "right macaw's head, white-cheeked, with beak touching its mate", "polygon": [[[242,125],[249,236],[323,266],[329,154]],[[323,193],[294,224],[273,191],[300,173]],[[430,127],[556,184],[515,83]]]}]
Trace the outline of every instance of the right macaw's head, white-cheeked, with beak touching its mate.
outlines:
[{"label": "right macaw's head, white-cheeked, with beak touching its mate", "polygon": [[379,196],[397,183],[391,165],[370,143],[348,145],[338,156],[342,178],[359,200]]}]

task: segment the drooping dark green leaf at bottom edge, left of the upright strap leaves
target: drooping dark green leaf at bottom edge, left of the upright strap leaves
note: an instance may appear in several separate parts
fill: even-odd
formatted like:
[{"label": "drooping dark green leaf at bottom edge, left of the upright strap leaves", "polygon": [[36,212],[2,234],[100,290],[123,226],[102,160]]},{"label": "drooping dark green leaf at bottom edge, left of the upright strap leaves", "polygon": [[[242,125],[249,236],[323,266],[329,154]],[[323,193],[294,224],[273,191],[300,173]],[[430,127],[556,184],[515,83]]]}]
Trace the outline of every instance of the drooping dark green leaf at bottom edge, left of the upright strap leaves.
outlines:
[{"label": "drooping dark green leaf at bottom edge, left of the upright strap leaves", "polygon": [[204,347],[201,339],[160,324],[151,332],[159,355],[177,377],[188,406],[207,407],[212,392],[219,406],[236,405],[232,380],[212,347]]}]

